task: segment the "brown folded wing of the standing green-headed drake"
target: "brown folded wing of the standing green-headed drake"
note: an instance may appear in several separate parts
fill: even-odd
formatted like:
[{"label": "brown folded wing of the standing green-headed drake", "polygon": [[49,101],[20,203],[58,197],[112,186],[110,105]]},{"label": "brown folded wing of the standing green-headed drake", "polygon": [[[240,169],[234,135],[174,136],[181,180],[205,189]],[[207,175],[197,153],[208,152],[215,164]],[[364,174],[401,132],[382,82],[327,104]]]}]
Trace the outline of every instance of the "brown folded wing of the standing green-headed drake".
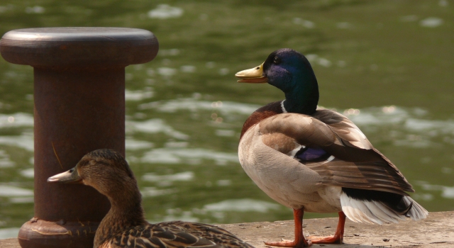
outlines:
[{"label": "brown folded wing of the standing green-headed drake", "polygon": [[[323,160],[300,160],[323,178],[323,184],[375,189],[401,195],[406,195],[404,191],[413,192],[397,167],[370,145],[356,125],[347,118],[342,118],[343,115],[323,114],[322,120],[328,120],[328,123],[297,113],[283,113],[262,120],[259,124],[262,141],[285,154],[289,154],[290,149],[287,147],[291,147],[289,144],[292,142],[310,147],[311,150],[305,148],[306,153],[327,152],[331,156],[325,156]],[[360,144],[360,147],[355,144]],[[311,157],[310,155],[306,157]]]}]

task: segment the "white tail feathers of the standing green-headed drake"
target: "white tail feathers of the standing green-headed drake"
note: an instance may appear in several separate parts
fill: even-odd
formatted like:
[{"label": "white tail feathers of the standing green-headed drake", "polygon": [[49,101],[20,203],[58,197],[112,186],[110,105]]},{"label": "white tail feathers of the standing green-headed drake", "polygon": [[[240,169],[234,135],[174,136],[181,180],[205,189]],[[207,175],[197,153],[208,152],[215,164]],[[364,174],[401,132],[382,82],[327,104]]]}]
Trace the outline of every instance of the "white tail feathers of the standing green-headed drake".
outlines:
[{"label": "white tail feathers of the standing green-headed drake", "polygon": [[[374,222],[382,225],[383,222],[399,222],[404,220],[405,215],[397,213],[380,201],[361,201],[350,198],[344,192],[341,193],[341,205],[345,215],[353,222],[365,222],[373,224]],[[412,220],[421,220],[426,218],[428,211],[416,203],[409,196],[404,196],[407,205],[412,203],[406,216]]]}]

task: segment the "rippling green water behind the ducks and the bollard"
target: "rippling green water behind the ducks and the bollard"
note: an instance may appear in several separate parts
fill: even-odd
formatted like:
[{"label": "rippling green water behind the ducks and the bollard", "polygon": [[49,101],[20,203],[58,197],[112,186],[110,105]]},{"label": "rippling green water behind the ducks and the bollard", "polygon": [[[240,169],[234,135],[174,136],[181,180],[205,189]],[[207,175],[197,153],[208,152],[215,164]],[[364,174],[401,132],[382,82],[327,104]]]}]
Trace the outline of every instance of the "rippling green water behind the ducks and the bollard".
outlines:
[{"label": "rippling green water behind the ducks and the bollard", "polygon": [[[228,223],[292,218],[236,155],[244,120],[283,94],[238,84],[233,74],[282,47],[308,55],[319,104],[350,113],[421,205],[454,210],[453,13],[453,1],[3,0],[0,33],[52,26],[155,33],[156,59],[126,68],[126,155],[146,217]],[[0,59],[0,235],[33,217],[32,82],[33,68]],[[305,215],[326,216],[333,215]]]}]

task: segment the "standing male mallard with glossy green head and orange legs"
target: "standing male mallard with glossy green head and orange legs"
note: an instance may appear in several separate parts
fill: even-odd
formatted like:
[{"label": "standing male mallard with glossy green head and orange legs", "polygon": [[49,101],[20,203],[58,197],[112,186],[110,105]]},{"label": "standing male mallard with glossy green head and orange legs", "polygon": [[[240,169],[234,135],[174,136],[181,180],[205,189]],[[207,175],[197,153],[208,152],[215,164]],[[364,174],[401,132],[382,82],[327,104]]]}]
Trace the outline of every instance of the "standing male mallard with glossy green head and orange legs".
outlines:
[{"label": "standing male mallard with glossy green head and orange legs", "polygon": [[[243,125],[238,154],[246,174],[272,199],[293,209],[295,239],[265,242],[278,247],[342,243],[345,216],[382,224],[428,215],[408,193],[404,175],[347,117],[317,108],[319,86],[309,61],[280,49],[258,67],[236,74],[239,82],[268,83],[281,89],[276,101],[252,113]],[[304,211],[338,213],[336,233],[309,237]]]}]

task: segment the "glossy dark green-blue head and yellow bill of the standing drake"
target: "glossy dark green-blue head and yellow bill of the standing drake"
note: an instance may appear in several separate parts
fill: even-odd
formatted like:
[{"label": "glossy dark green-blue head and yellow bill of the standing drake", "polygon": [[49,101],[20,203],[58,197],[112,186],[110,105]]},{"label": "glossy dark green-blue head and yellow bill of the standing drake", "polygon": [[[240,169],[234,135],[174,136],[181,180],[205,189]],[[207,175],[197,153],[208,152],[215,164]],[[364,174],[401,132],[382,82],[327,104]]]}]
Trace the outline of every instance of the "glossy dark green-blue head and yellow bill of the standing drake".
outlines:
[{"label": "glossy dark green-blue head and yellow bill of the standing drake", "polygon": [[319,101],[319,85],[309,61],[301,53],[279,49],[258,67],[235,74],[243,83],[268,83],[281,89],[287,111],[311,114]]}]

